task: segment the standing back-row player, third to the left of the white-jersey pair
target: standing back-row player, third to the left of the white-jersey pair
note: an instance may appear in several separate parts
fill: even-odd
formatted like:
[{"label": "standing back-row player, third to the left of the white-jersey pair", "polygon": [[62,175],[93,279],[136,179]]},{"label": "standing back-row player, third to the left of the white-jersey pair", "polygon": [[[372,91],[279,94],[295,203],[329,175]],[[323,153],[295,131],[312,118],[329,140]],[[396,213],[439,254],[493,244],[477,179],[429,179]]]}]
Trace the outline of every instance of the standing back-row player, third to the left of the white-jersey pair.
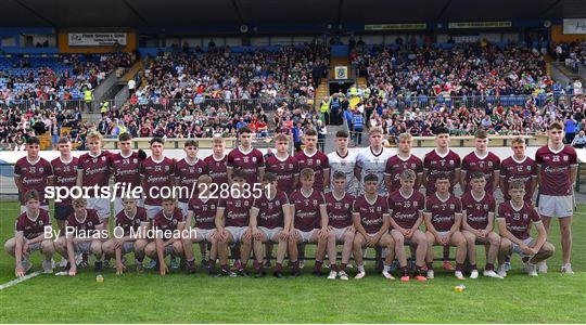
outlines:
[{"label": "standing back-row player, third to the left of the white-jersey pair", "polygon": [[[226,166],[228,168],[228,182],[232,183],[232,171],[240,168],[245,176],[245,181],[251,188],[259,184],[265,173],[265,157],[263,153],[252,146],[252,131],[249,127],[238,130],[240,145],[228,154]],[[252,191],[252,190],[251,190]]]}]

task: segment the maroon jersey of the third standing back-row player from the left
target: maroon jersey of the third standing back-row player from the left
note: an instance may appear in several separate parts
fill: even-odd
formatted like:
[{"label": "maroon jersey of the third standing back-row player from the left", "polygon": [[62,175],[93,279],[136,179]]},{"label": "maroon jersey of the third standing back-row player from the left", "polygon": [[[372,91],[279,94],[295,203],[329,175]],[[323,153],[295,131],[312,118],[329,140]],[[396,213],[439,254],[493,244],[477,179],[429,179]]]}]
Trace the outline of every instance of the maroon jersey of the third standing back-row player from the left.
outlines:
[{"label": "maroon jersey of the third standing back-row player from the left", "polygon": [[[93,186],[98,184],[100,187],[106,187],[110,180],[110,165],[112,155],[107,151],[102,151],[98,156],[92,156],[90,153],[79,156],[77,170],[84,172],[81,186]],[[90,196],[95,196],[93,190],[89,191]]]}]

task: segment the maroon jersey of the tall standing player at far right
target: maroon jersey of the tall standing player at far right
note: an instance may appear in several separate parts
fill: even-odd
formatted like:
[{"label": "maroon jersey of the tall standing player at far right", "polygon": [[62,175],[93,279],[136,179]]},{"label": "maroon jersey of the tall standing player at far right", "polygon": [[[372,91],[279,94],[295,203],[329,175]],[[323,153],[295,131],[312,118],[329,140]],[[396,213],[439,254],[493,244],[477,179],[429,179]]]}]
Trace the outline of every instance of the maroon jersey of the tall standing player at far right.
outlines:
[{"label": "maroon jersey of the tall standing player at far right", "polygon": [[577,166],[576,151],[564,145],[561,151],[553,152],[545,145],[537,150],[535,162],[542,168],[539,194],[563,196],[572,194],[570,167]]}]

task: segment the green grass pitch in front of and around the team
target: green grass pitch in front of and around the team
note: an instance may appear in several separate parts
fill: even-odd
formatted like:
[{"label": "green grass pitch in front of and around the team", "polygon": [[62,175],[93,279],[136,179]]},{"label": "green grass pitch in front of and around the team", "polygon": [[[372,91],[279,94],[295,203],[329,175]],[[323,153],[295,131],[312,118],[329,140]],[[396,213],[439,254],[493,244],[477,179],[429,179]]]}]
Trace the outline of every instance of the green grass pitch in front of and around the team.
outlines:
[{"label": "green grass pitch in front of and around the team", "polygon": [[[2,243],[13,235],[17,212],[17,203],[0,202]],[[372,262],[366,278],[349,282],[316,278],[306,266],[301,277],[283,280],[211,278],[202,273],[162,277],[156,272],[131,271],[116,276],[107,270],[104,282],[97,283],[90,268],[76,277],[41,274],[1,290],[0,322],[577,323],[586,320],[586,205],[578,207],[573,230],[574,276],[559,273],[561,249],[555,222],[551,242],[558,251],[549,261],[550,273],[537,278],[521,272],[518,257],[504,281],[460,282],[451,273],[436,271],[436,278],[428,283],[383,280],[373,272]],[[483,258],[479,259],[483,265]],[[38,255],[33,261],[39,269]],[[13,278],[14,260],[2,249],[0,284]],[[455,292],[461,283],[467,290]]]}]

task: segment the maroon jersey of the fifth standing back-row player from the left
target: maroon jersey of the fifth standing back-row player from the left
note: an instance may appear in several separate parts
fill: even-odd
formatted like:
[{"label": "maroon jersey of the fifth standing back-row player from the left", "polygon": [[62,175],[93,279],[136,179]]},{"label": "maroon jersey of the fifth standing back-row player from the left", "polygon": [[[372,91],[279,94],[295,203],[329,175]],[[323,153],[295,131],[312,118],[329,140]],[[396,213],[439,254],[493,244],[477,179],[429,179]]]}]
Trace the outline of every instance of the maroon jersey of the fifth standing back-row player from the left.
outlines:
[{"label": "maroon jersey of the fifth standing back-row player from the left", "polygon": [[[160,206],[162,198],[160,188],[171,186],[171,177],[175,174],[175,160],[164,157],[161,161],[155,161],[149,157],[140,165],[140,176],[144,178],[142,182],[144,191],[144,204],[150,206]],[[153,188],[153,190],[151,190]],[[155,197],[151,197],[152,194]]]}]

